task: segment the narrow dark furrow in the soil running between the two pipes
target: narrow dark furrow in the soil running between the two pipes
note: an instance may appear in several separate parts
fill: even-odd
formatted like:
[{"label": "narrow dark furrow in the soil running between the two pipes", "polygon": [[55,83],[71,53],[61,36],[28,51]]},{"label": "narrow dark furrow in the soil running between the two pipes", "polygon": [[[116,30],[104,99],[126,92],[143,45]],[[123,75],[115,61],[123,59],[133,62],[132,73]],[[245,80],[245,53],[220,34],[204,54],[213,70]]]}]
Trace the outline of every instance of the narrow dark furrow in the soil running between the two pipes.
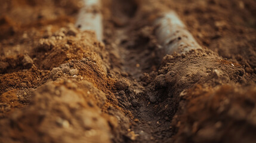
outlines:
[{"label": "narrow dark furrow in the soil running between the two pipes", "polygon": [[[152,91],[140,79],[144,74],[150,74],[159,69],[161,59],[156,53],[158,49],[156,46],[150,45],[152,39],[136,32],[141,27],[136,23],[137,6],[132,1],[113,1],[112,13],[115,20],[122,21],[124,24],[115,26],[113,29],[115,34],[110,41],[105,41],[105,44],[113,46],[118,52],[119,58],[121,58],[119,69],[130,75],[127,79],[134,91],[138,93],[126,94],[128,102],[133,108],[126,107],[124,110],[130,110],[134,119],[138,119],[131,128],[136,134],[136,140],[127,139],[127,142],[165,142],[172,135],[171,116],[168,117],[168,113],[163,113],[158,105],[165,100],[167,93],[165,89]],[[147,29],[146,25],[144,27]],[[150,29],[150,26],[148,28]],[[127,41],[127,38],[131,39]],[[154,104],[150,102],[149,97],[153,100],[156,97],[162,98],[158,98]],[[124,107],[125,103],[123,102],[119,100],[121,107]],[[168,112],[174,114],[174,111]]]}]

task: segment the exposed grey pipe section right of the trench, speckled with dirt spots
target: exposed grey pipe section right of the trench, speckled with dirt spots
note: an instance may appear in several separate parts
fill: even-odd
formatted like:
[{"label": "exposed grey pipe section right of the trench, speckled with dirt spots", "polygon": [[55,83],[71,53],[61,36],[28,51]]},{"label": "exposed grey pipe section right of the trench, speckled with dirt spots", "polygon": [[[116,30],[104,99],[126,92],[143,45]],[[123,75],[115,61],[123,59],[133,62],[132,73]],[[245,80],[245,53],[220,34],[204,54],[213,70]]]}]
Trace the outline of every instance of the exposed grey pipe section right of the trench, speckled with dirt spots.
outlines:
[{"label": "exposed grey pipe section right of the trench, speckled with dirt spots", "polygon": [[164,46],[165,54],[183,54],[191,49],[201,49],[186,26],[174,11],[169,11],[155,20],[156,37]]}]

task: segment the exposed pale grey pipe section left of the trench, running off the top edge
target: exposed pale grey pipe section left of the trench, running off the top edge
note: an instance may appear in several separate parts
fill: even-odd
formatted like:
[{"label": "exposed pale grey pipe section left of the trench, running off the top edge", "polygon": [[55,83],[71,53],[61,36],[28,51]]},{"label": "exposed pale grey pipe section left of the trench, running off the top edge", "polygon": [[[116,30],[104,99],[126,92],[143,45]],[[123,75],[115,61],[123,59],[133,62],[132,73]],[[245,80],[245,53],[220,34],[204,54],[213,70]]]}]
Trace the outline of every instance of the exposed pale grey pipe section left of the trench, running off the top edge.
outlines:
[{"label": "exposed pale grey pipe section left of the trench, running off the top edge", "polygon": [[98,41],[103,39],[103,24],[102,15],[100,13],[100,0],[83,0],[84,7],[81,8],[78,14],[78,19],[75,26],[80,30],[92,30]]}]

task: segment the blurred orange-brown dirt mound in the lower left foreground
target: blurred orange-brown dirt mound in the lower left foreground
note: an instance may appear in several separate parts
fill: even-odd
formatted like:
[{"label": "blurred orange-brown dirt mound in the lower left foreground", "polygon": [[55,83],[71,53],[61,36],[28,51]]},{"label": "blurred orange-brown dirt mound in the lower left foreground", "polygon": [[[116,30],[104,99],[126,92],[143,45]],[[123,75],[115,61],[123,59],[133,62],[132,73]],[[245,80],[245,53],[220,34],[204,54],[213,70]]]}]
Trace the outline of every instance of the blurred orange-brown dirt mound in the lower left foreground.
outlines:
[{"label": "blurred orange-brown dirt mound in the lower left foreground", "polygon": [[103,92],[90,82],[47,83],[36,89],[31,105],[22,113],[1,120],[1,141],[110,142],[108,116],[98,110],[105,101]]}]

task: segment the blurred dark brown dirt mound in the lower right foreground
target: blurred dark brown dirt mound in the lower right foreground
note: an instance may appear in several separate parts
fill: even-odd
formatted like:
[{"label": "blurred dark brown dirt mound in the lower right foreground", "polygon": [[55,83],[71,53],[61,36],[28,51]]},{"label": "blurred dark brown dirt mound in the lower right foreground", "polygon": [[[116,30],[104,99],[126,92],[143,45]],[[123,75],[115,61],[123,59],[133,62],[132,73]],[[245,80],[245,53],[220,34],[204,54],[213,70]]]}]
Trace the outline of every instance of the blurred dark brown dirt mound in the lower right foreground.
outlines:
[{"label": "blurred dark brown dirt mound in the lower right foreground", "polygon": [[255,95],[252,86],[189,89],[183,115],[172,121],[179,128],[174,142],[254,142]]}]

